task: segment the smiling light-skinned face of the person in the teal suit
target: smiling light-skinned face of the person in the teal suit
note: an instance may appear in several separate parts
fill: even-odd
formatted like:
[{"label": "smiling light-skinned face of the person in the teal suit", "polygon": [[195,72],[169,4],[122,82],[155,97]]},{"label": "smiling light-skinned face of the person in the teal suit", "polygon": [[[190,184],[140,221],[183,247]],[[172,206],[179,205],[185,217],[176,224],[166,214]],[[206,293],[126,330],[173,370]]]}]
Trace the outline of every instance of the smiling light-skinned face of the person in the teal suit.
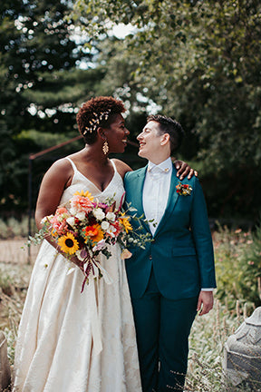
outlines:
[{"label": "smiling light-skinned face of the person in the teal suit", "polygon": [[142,132],[137,136],[137,139],[140,142],[140,151],[138,152],[138,155],[157,164],[162,147],[161,142],[164,139],[162,134],[160,134],[159,122],[148,122]]}]

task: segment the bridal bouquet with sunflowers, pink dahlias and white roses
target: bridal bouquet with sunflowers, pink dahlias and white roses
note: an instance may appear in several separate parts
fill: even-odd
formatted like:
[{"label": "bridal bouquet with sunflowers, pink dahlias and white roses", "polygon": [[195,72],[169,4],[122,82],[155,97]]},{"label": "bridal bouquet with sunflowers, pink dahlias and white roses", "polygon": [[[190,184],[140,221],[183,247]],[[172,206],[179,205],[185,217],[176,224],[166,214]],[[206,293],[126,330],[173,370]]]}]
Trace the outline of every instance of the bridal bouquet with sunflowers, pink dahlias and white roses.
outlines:
[{"label": "bridal bouquet with sunflowers, pink dahlias and white roses", "polygon": [[131,252],[127,250],[129,242],[144,249],[145,242],[150,241],[149,233],[139,234],[132,229],[131,219],[140,220],[142,217],[133,218],[127,215],[128,211],[121,211],[123,196],[120,207],[116,209],[113,198],[103,203],[94,200],[89,191],[76,192],[53,215],[43,218],[42,229],[29,242],[51,235],[69,260],[76,256],[77,265],[84,274],[83,290],[90,278],[102,278],[106,273],[97,256],[102,253],[109,259],[109,245],[118,241],[123,249],[121,257],[127,259],[131,257]]}]

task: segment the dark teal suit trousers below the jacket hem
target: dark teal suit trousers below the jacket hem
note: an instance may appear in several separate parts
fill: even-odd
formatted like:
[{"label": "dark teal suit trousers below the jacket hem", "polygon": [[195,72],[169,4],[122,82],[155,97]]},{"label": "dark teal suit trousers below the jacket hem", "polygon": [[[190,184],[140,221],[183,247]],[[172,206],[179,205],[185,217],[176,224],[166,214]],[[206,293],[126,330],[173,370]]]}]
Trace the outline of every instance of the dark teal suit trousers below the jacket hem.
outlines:
[{"label": "dark teal suit trousers below the jacket hem", "polygon": [[143,392],[183,391],[197,302],[162,297],[153,270],[144,295],[132,299]]}]

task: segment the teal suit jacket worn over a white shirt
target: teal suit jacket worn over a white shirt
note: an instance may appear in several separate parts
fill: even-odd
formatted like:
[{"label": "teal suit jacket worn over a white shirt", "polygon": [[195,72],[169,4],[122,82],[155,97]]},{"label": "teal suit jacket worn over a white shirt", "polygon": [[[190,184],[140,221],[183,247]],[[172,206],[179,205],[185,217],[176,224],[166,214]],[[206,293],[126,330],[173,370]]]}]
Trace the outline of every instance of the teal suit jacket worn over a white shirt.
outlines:
[{"label": "teal suit jacket worn over a white shirt", "polygon": [[[144,213],[142,191],[147,166],[129,171],[124,178],[127,203],[140,216]],[[131,247],[131,259],[125,260],[131,297],[140,298],[150,279],[153,265],[160,293],[168,299],[186,299],[198,296],[200,289],[216,288],[214,252],[208,224],[208,212],[202,188],[197,177],[181,181],[192,186],[191,195],[181,196],[176,185],[179,178],[173,165],[169,200],[153,240],[146,249]],[[138,222],[132,220],[134,229]],[[150,232],[142,223],[141,232]]]}]

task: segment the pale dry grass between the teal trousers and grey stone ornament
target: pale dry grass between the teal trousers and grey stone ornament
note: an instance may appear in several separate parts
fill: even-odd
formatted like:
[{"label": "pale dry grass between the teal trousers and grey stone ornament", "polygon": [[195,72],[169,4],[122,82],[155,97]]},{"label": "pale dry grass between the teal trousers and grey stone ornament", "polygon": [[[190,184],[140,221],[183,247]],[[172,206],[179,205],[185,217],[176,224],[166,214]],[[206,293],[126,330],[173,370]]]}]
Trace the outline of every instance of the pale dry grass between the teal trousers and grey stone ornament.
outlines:
[{"label": "pale dry grass between the teal trousers and grey stone ornament", "polygon": [[241,306],[237,301],[235,311],[231,312],[226,305],[216,300],[214,309],[208,315],[197,316],[189,338],[186,392],[261,390],[261,385],[256,389],[247,385],[234,387],[222,367],[224,344],[246,319],[249,310],[246,304]]}]

